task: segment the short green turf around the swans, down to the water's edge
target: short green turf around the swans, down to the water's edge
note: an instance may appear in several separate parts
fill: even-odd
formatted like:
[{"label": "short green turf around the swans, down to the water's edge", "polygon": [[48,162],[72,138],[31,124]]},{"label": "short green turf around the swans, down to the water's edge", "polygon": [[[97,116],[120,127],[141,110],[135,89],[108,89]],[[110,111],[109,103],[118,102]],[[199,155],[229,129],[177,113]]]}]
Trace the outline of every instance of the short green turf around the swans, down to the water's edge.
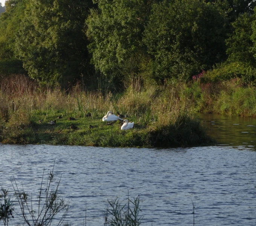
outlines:
[{"label": "short green turf around the swans, down to the water's edge", "polygon": [[[0,142],[13,144],[51,144],[82,145],[102,147],[171,147],[209,143],[197,119],[185,117],[177,124],[160,127],[155,122],[135,122],[134,128],[121,130],[122,121],[103,122],[102,116],[78,117],[69,121],[69,115],[57,119],[60,112],[33,115],[27,124],[13,125],[12,122],[0,123]],[[133,117],[131,117],[133,118]],[[39,120],[43,119],[43,122]],[[55,120],[50,125],[50,120]],[[129,118],[128,118],[129,119]],[[73,130],[71,125],[77,127]],[[94,128],[89,128],[92,125]]]}]

